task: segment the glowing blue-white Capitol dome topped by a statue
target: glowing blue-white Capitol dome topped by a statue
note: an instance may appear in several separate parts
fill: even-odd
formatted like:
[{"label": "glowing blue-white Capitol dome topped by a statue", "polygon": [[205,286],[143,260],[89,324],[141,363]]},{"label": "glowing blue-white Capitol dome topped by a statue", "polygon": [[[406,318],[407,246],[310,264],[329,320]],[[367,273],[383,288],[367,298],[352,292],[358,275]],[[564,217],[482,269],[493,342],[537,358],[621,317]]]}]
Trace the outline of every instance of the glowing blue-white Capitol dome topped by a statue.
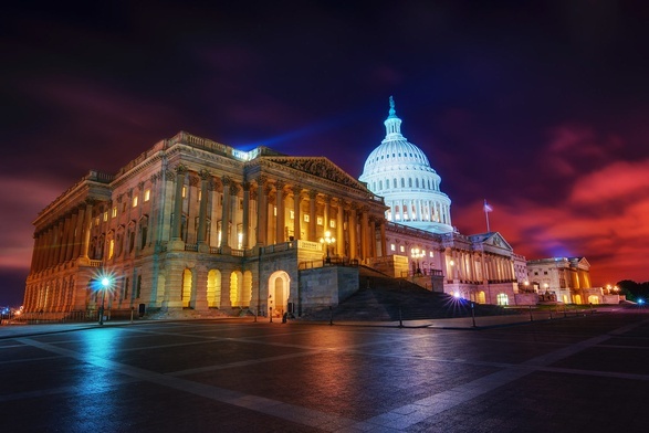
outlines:
[{"label": "glowing blue-white Capitol dome topped by a statue", "polygon": [[390,208],[386,211],[388,221],[433,233],[453,231],[451,200],[439,189],[441,178],[426,154],[401,135],[401,119],[391,96],[384,124],[386,137],[367,157],[359,180],[385,198]]}]

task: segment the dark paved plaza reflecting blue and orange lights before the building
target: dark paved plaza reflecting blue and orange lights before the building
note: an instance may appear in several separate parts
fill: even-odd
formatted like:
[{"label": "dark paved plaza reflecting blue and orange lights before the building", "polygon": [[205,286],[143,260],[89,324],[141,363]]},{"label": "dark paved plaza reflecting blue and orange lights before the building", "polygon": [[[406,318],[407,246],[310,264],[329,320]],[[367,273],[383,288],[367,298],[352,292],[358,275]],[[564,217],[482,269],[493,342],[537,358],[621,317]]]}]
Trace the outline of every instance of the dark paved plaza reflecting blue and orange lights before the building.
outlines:
[{"label": "dark paved plaza reflecting blue and orange lights before the building", "polygon": [[394,325],[221,319],[4,326],[3,430],[648,429],[647,310],[501,326]]}]

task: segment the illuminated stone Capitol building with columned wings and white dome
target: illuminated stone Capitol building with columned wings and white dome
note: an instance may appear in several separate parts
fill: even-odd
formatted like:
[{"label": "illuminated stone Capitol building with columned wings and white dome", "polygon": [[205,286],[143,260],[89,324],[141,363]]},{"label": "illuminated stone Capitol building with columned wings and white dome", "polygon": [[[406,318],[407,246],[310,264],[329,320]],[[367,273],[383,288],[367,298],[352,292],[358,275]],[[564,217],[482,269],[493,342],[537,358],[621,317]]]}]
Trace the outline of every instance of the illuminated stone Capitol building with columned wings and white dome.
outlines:
[{"label": "illuminated stone Capitol building with columned wings and white dome", "polygon": [[114,175],[91,170],[33,223],[24,310],[97,309],[107,275],[112,310],[302,315],[357,291],[359,266],[475,303],[587,295],[574,287],[589,286],[585,260],[566,262],[572,285],[543,286],[500,233],[454,230],[440,176],[400,126],[390,97],[359,179],[324,157],[182,131]]}]

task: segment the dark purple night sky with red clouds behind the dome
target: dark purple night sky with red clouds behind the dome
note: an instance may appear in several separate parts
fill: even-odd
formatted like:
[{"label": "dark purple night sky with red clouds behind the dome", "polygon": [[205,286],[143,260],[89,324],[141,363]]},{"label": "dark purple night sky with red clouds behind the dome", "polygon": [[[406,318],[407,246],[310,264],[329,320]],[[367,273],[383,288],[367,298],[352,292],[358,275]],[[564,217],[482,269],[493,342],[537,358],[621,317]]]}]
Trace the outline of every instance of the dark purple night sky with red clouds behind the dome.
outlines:
[{"label": "dark purple night sky with red clouds behind the dome", "polygon": [[527,258],[649,279],[647,2],[130,3],[3,7],[0,305],[22,302],[38,212],[90,169],[186,130],[358,177],[390,95],[461,233],[486,199]]}]

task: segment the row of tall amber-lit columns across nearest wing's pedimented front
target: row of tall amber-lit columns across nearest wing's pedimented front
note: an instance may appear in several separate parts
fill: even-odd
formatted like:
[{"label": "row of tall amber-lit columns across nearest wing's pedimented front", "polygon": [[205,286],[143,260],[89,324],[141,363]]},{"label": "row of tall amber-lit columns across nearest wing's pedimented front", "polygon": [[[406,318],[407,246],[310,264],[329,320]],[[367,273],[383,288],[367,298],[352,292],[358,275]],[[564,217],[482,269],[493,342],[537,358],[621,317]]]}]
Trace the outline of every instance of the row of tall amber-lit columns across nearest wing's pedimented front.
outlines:
[{"label": "row of tall amber-lit columns across nearest wing's pedimented front", "polygon": [[[180,215],[182,212],[182,188],[186,181],[187,169],[179,167],[176,173],[176,186],[175,186],[175,199],[174,199],[174,214]],[[197,228],[197,243],[208,244],[207,239],[207,222],[210,216],[208,213],[208,202],[206,198],[209,194],[210,180],[212,179],[207,170],[201,171],[201,183],[200,193],[201,200],[198,210],[198,228]],[[229,228],[235,228],[240,222],[243,230],[242,247],[251,247],[250,234],[257,229],[257,236],[254,239],[257,244],[268,245],[272,243],[283,243],[289,241],[286,229],[290,230],[291,224],[287,223],[286,219],[286,200],[292,198],[293,200],[293,239],[317,242],[317,198],[318,192],[315,190],[305,191],[297,184],[287,184],[283,180],[276,180],[270,182],[265,176],[260,176],[257,180],[257,220],[254,223],[251,221],[251,202],[253,201],[251,194],[251,183],[242,182],[237,183],[228,177],[222,177],[220,183],[222,184],[222,205],[221,205],[221,239],[218,246],[221,249],[233,247],[231,244],[232,236],[228,235]],[[237,199],[239,191],[243,191],[243,205],[242,215],[238,218],[232,209],[233,199]],[[272,196],[274,191],[274,197]],[[303,196],[306,192],[306,197]],[[303,214],[302,204],[303,200],[308,200],[308,222],[304,229],[304,236],[302,236],[303,230]],[[370,256],[377,256],[377,254],[386,254],[386,241],[385,241],[385,221],[379,219],[380,223],[380,252],[376,251],[376,219],[370,218],[369,208],[363,207],[359,203],[347,201],[344,198],[333,198],[331,196],[324,196],[323,198],[323,232],[331,230],[329,221],[333,220],[333,211],[335,210],[335,234],[338,242],[335,243],[335,251],[338,255],[348,255],[349,257],[360,256],[367,258]],[[190,210],[191,211],[191,210]],[[273,212],[274,211],[274,212]],[[211,219],[210,219],[211,220]],[[180,240],[181,237],[181,218],[175,218],[171,241]],[[345,230],[345,223],[347,229]],[[349,230],[349,228],[357,228],[356,230]],[[270,232],[274,229],[274,233]],[[238,235],[239,233],[237,233]],[[359,237],[358,237],[359,236]],[[348,242],[348,251],[345,251],[345,242]],[[358,245],[358,246],[357,246]]]}]

